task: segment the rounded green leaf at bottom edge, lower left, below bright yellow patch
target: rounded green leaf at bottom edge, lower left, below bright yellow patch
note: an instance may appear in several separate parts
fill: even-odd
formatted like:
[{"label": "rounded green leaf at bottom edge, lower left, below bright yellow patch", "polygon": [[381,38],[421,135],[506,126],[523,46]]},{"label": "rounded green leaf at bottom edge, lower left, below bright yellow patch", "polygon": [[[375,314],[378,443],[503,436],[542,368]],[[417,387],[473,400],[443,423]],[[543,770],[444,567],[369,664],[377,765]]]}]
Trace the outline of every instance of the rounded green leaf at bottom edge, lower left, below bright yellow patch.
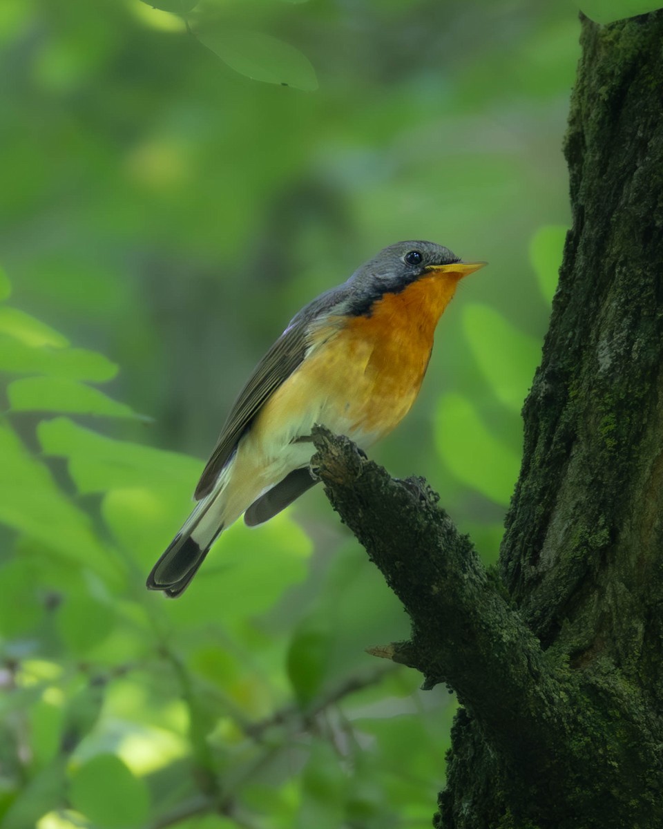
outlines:
[{"label": "rounded green leaf at bottom edge, lower left, below bright yellow patch", "polygon": [[147,785],[114,754],[97,754],[72,774],[70,800],[100,829],[138,829],[150,807]]}]

